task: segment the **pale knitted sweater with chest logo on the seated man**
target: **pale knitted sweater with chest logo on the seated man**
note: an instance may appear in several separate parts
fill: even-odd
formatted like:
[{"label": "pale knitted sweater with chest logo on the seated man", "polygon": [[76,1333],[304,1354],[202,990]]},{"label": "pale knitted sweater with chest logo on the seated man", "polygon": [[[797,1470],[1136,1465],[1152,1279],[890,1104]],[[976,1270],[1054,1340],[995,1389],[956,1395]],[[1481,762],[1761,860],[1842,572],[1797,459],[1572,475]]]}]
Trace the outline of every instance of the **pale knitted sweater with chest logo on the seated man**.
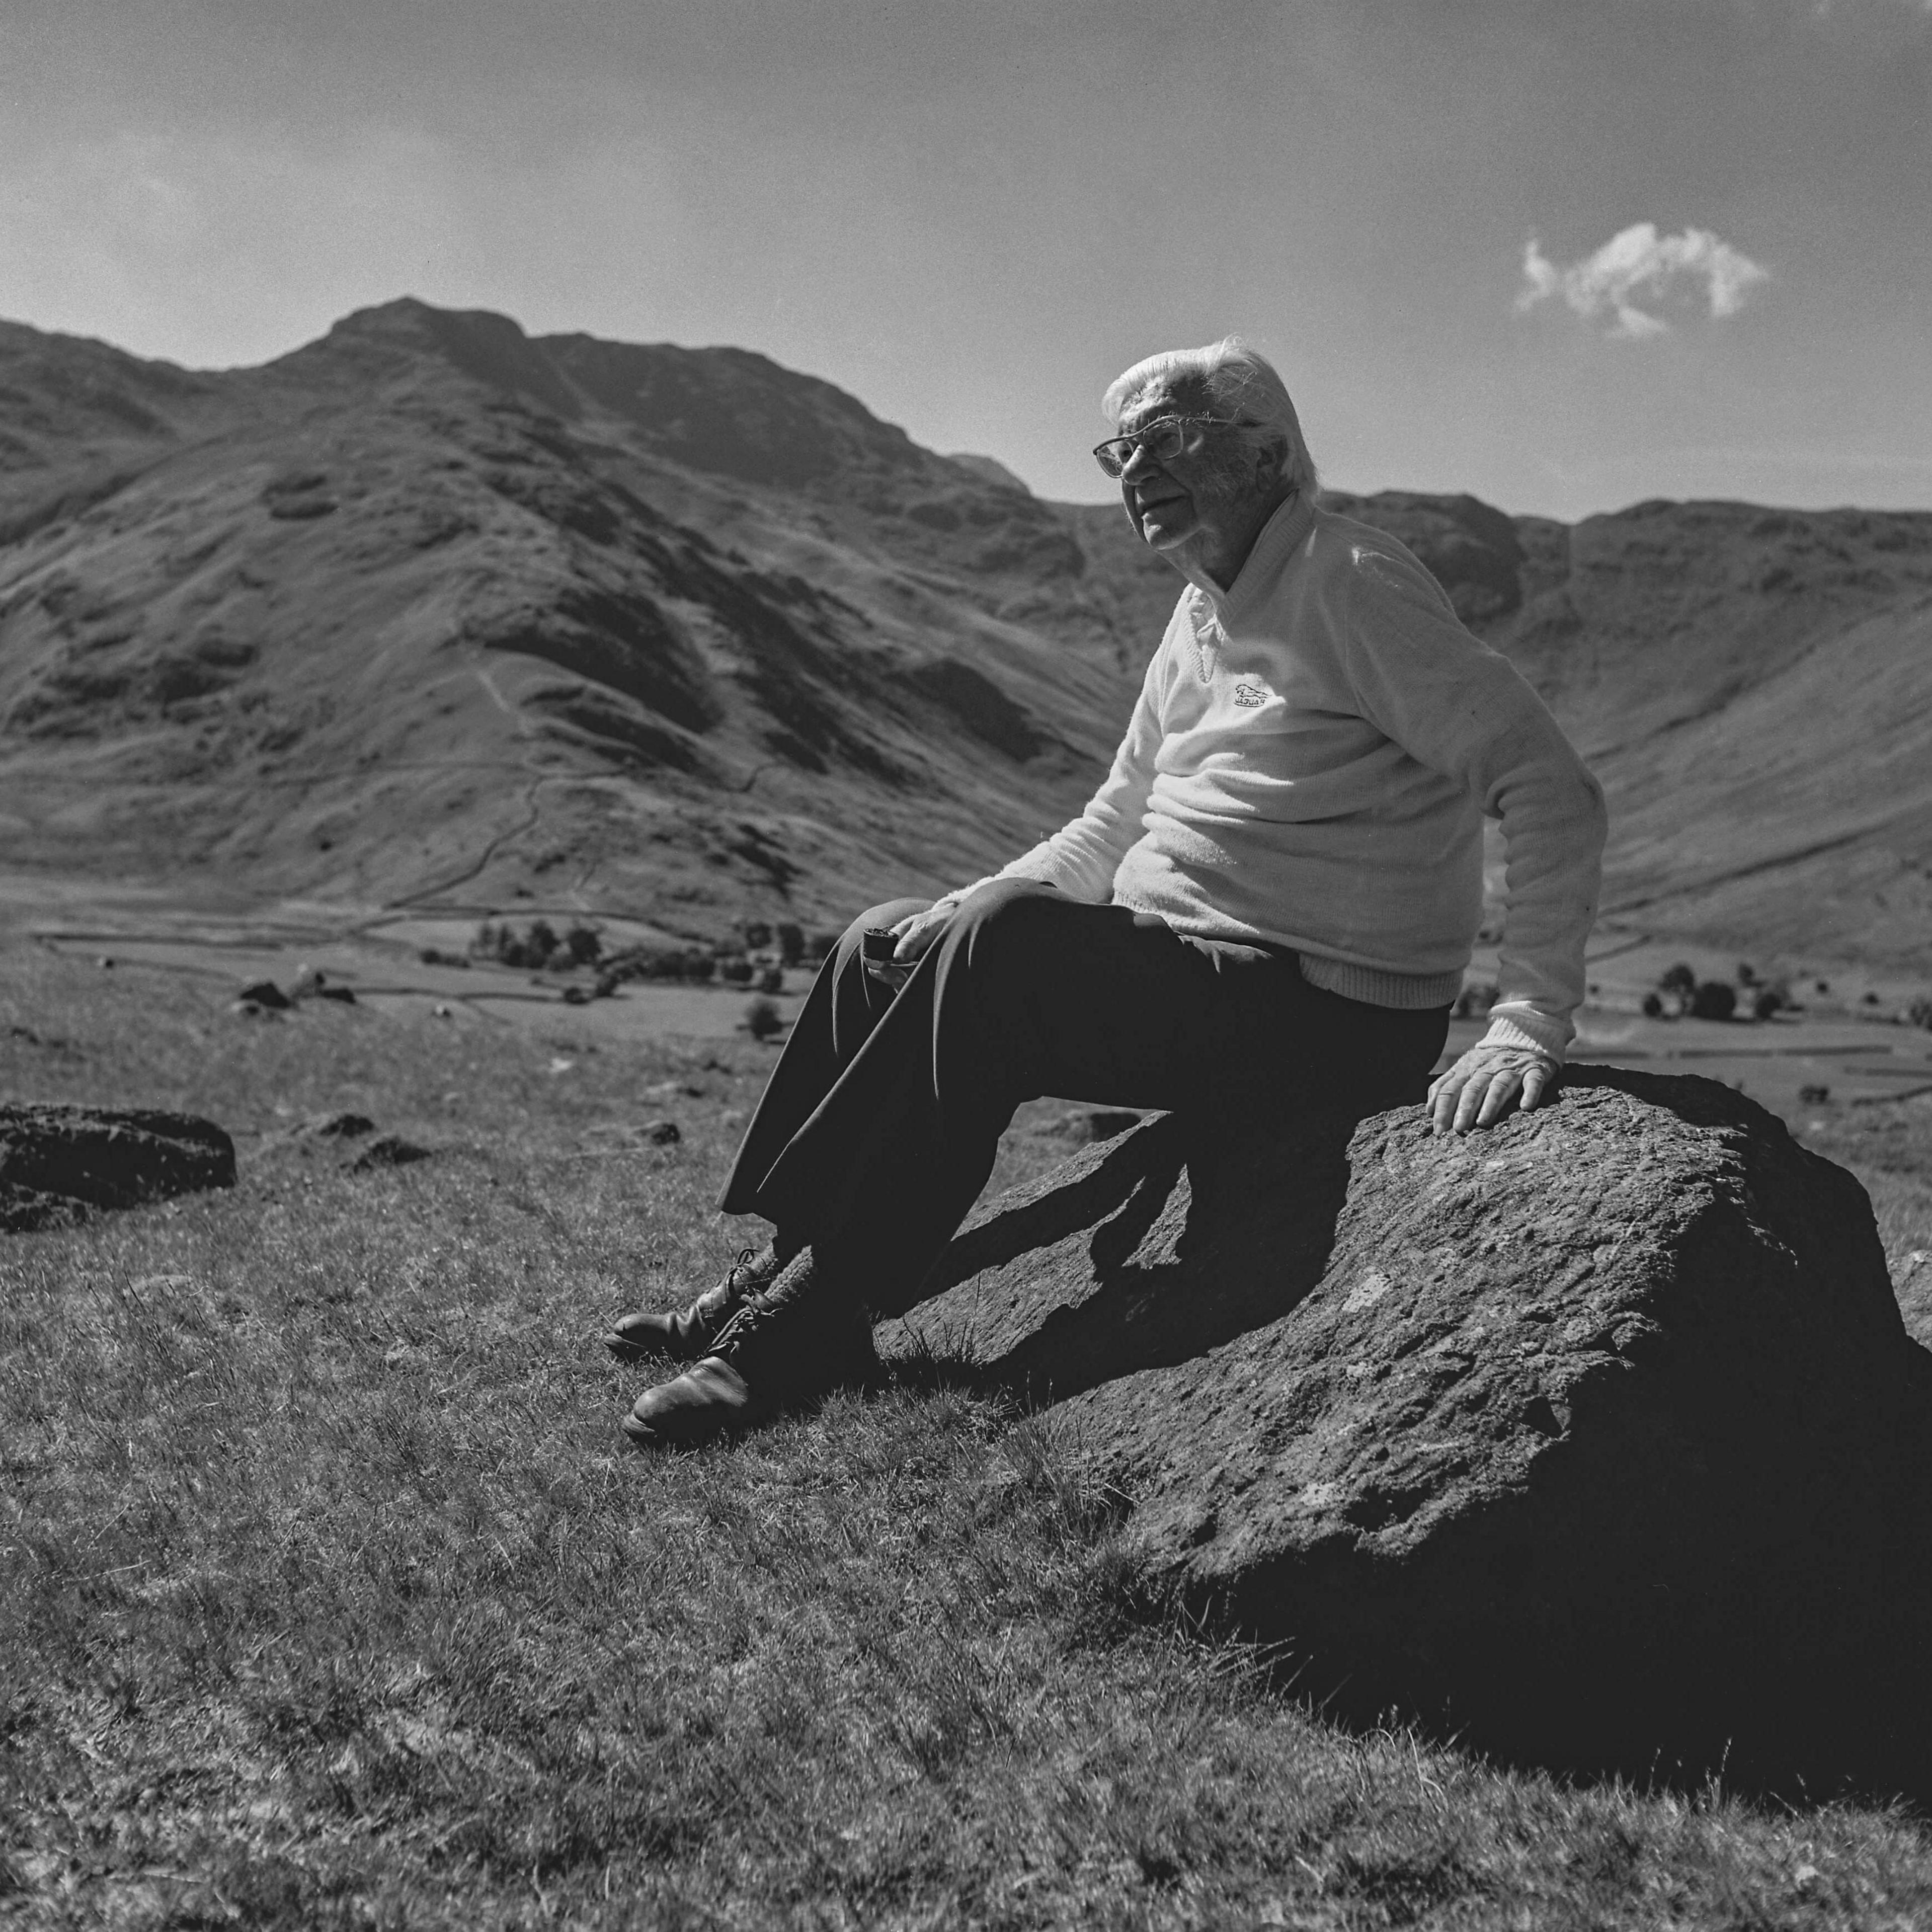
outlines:
[{"label": "pale knitted sweater with chest logo on the seated man", "polygon": [[1231,589],[1182,591],[1086,811],[995,877],[1293,947],[1349,999],[1439,1007],[1482,920],[1484,815],[1507,848],[1488,1037],[1561,1057],[1604,794],[1401,543],[1291,498]]}]

